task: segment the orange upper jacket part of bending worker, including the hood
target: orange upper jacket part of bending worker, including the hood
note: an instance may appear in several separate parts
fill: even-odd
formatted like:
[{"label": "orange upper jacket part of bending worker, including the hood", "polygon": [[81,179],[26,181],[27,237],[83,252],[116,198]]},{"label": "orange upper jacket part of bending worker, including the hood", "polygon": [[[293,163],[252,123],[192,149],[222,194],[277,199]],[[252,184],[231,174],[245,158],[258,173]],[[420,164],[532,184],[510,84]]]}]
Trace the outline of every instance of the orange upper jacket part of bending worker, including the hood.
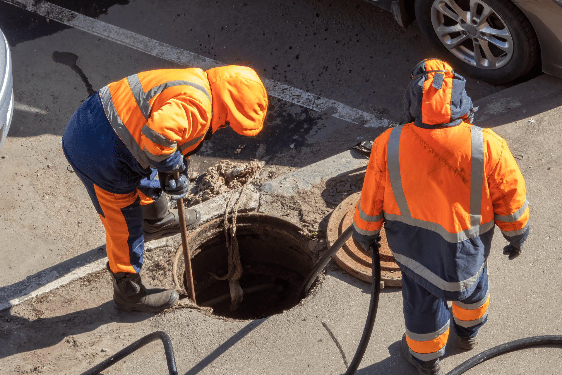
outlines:
[{"label": "orange upper jacket part of bending worker, including the hood", "polygon": [[235,65],[145,71],[108,84],[99,96],[107,119],[143,168],[178,150],[191,155],[206,134],[225,124],[255,135],[268,106],[255,71]]}]

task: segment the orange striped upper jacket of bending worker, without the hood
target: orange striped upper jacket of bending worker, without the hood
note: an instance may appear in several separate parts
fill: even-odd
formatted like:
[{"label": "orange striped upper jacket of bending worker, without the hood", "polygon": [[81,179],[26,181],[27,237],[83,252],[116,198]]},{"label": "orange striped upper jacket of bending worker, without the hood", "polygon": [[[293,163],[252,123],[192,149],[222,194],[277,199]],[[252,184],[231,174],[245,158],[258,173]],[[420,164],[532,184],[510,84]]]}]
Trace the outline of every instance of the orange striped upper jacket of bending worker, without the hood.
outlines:
[{"label": "orange striped upper jacket of bending worker, without the hood", "polygon": [[[99,91],[106,116],[143,168],[197,148],[211,124],[212,94],[198,68],[151,70]],[[213,131],[216,129],[213,129]]]}]

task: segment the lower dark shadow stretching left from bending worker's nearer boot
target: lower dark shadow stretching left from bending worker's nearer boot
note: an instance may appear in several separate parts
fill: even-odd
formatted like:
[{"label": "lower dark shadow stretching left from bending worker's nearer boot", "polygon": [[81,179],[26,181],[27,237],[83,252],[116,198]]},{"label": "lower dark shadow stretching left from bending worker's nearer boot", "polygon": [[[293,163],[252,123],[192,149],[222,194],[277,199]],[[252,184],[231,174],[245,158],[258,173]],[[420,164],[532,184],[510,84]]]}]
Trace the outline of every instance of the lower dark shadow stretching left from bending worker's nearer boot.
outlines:
[{"label": "lower dark shadow stretching left from bending worker's nearer boot", "polygon": [[[9,310],[4,310],[4,314]],[[132,311],[127,313],[115,309],[112,301],[107,301],[95,308],[75,311],[52,318],[35,320],[6,314],[7,326],[0,331],[0,358],[43,349],[66,340],[75,341],[71,336],[92,332],[108,323],[137,323],[154,317],[152,313]],[[70,341],[69,341],[70,340]]]}]

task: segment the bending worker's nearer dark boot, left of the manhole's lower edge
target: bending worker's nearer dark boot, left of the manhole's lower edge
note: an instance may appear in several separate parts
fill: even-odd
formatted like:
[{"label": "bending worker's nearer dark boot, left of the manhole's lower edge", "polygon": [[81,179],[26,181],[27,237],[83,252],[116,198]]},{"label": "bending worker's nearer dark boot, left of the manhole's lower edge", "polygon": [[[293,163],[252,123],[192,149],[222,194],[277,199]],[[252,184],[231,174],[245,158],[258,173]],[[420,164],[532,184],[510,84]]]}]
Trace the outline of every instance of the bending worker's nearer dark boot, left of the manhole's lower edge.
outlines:
[{"label": "bending worker's nearer dark boot, left of the manhole's lower edge", "polygon": [[178,302],[178,292],[161,288],[147,289],[138,273],[113,273],[109,262],[107,270],[113,280],[113,304],[119,310],[158,313]]}]

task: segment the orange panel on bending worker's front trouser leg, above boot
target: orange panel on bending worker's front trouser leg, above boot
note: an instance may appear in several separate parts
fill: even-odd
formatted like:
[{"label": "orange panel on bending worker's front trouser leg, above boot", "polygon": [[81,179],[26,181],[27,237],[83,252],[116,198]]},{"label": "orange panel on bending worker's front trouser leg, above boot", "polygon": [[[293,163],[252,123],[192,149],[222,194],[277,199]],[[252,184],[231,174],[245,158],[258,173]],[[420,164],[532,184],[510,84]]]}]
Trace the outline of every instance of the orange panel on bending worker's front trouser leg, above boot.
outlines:
[{"label": "orange panel on bending worker's front trouser leg, above boot", "polygon": [[106,229],[106,250],[110,269],[114,273],[135,273],[129,259],[129,228],[121,209],[137,200],[138,190],[129,194],[114,194],[96,185],[94,190],[105,215],[105,218],[102,215],[99,215],[99,218]]}]

